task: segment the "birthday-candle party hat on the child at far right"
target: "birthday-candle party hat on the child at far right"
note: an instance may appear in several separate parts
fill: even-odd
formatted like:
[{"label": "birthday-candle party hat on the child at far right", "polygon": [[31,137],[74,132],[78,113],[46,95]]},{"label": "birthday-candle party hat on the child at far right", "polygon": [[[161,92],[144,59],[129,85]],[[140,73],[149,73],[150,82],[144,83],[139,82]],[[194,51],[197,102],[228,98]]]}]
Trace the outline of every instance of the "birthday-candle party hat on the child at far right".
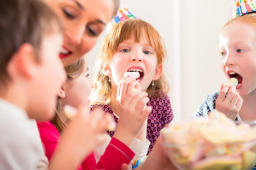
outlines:
[{"label": "birthday-candle party hat on the child at far right", "polygon": [[253,0],[230,0],[229,7],[229,20],[256,11],[256,4]]}]

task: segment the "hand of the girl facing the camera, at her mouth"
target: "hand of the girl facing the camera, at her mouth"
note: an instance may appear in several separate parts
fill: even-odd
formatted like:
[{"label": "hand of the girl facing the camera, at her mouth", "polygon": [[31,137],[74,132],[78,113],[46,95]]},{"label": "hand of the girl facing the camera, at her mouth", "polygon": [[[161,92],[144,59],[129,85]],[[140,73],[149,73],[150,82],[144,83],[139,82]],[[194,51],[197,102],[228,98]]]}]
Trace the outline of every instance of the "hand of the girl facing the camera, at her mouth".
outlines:
[{"label": "hand of the girl facing the camera, at her mouth", "polygon": [[134,93],[134,89],[136,89],[137,92],[140,92],[140,84],[136,79],[128,76],[123,77],[118,84],[117,90],[117,101],[119,104],[122,105],[127,94]]}]

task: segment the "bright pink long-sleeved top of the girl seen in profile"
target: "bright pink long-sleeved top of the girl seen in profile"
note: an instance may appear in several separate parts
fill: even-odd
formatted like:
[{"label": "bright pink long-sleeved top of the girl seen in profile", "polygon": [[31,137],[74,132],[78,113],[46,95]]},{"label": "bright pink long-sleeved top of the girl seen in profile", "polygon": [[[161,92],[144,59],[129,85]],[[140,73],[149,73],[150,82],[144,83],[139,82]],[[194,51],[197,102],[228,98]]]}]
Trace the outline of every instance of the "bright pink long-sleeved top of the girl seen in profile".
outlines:
[{"label": "bright pink long-sleeved top of the girl seen in profile", "polygon": [[[46,157],[51,159],[55,147],[60,141],[58,129],[50,122],[37,122],[41,140],[45,146]],[[112,138],[106,148],[105,153],[101,156],[100,161],[96,164],[94,154],[91,153],[81,164],[78,170],[120,170],[123,163],[129,163],[134,153],[128,146],[119,140]]]}]

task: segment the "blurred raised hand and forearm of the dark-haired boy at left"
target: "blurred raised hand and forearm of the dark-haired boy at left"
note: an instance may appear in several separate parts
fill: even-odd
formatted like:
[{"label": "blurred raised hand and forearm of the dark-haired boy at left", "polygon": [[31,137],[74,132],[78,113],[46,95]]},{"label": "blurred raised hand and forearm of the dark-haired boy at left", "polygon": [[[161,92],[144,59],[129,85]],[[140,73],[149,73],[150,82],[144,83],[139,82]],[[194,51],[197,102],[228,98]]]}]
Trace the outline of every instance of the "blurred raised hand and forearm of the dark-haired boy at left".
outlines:
[{"label": "blurred raised hand and forearm of the dark-haired boy at left", "polygon": [[[106,114],[95,110],[90,114],[89,106],[81,106],[77,114],[64,129],[61,141],[51,159],[55,165],[61,162],[69,162],[70,167],[64,169],[75,169],[88,156],[92,150],[106,140],[105,129],[110,123]],[[56,164],[57,163],[57,164]],[[59,164],[58,164],[59,163]]]}]

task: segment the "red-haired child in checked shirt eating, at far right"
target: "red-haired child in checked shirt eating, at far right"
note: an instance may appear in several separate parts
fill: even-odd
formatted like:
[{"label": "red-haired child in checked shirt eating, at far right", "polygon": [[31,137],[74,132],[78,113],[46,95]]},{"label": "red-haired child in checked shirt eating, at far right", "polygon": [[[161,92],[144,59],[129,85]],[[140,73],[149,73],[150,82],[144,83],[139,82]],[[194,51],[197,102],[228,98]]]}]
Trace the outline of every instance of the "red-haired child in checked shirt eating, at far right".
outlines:
[{"label": "red-haired child in checked shirt eating, at far right", "polygon": [[221,85],[219,92],[207,95],[192,117],[208,116],[216,108],[230,119],[256,119],[255,40],[256,13],[245,14],[225,24],[219,34],[221,67],[228,78],[238,79],[238,85]]}]

